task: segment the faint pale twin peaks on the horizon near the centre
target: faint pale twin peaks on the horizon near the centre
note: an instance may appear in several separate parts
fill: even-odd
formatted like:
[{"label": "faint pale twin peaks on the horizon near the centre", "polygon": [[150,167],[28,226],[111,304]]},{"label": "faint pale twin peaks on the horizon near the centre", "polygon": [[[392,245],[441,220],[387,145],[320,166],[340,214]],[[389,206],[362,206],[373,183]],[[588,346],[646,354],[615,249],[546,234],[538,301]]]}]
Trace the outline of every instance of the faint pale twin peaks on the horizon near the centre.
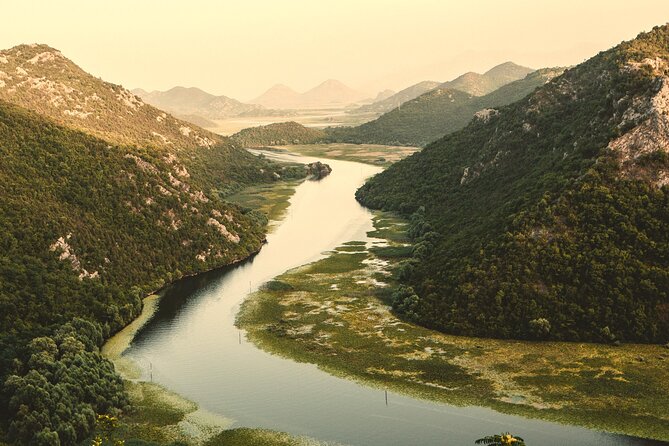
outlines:
[{"label": "faint pale twin peaks on the horizon near the centre", "polygon": [[302,109],[343,107],[365,99],[365,94],[329,79],[309,91],[298,93],[285,85],[275,85],[251,102],[268,108]]}]

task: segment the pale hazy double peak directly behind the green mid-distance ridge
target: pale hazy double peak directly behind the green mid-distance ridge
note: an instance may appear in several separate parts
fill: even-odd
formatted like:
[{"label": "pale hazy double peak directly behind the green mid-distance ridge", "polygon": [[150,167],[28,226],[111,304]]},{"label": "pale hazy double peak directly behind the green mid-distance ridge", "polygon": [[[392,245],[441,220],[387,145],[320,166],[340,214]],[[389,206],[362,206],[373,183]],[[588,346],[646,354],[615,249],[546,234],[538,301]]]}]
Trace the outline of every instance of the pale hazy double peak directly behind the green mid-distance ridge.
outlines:
[{"label": "pale hazy double peak directly behind the green mid-distance ridge", "polygon": [[524,78],[532,71],[534,70],[531,68],[522,67],[513,62],[505,62],[483,74],[465,73],[452,81],[444,82],[440,88],[452,88],[473,96],[484,96],[510,82]]}]

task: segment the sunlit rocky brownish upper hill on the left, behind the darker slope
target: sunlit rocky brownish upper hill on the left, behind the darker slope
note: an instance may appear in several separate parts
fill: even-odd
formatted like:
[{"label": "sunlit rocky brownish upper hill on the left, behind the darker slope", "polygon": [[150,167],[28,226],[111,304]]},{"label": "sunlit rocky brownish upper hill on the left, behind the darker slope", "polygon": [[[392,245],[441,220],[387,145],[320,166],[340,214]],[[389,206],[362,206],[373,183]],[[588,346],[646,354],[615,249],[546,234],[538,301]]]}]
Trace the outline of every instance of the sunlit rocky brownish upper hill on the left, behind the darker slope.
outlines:
[{"label": "sunlit rocky brownish upper hill on the left, behind the darker slope", "polygon": [[145,104],[47,45],[0,51],[0,100],[112,144],[169,154],[205,190],[234,189],[272,178],[269,170],[259,173],[257,157],[227,139]]}]

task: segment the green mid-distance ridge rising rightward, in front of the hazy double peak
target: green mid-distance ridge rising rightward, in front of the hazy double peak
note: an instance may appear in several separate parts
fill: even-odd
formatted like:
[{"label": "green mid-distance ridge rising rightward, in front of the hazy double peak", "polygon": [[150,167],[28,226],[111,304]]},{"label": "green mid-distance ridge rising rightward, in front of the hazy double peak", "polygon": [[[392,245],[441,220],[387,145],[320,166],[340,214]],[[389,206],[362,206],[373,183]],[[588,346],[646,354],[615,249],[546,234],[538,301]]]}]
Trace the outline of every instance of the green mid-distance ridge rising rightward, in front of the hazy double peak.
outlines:
[{"label": "green mid-distance ridge rising rightward, in front of the hazy double peak", "polygon": [[559,68],[537,70],[481,97],[439,86],[373,121],[327,132],[329,139],[339,142],[423,146],[461,129],[476,113],[523,98],[561,72]]}]

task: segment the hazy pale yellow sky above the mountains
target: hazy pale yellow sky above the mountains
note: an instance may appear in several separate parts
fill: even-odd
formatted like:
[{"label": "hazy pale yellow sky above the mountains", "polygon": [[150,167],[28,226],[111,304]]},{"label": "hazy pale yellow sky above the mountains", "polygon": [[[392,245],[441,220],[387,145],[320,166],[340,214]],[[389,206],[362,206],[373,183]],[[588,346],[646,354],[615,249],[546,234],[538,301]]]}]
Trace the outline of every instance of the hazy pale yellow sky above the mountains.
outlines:
[{"label": "hazy pale yellow sky above the mountains", "polygon": [[0,48],[46,43],[126,87],[249,100],[334,78],[370,93],[512,60],[571,65],[669,20],[669,0],[3,0]]}]

